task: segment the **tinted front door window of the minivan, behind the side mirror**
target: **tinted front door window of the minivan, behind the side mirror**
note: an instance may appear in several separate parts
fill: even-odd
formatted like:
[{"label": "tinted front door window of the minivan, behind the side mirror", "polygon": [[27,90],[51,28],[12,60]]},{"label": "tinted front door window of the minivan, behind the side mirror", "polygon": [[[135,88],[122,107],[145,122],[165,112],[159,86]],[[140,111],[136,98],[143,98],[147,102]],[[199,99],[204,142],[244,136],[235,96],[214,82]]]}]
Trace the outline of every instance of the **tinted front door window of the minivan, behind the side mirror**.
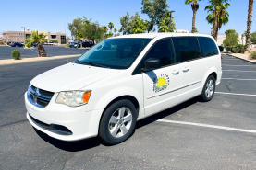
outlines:
[{"label": "tinted front door window of the minivan, behind the side mirror", "polygon": [[147,53],[145,61],[150,58],[159,59],[162,62],[162,66],[175,63],[172,40],[160,40],[154,44],[152,49]]}]

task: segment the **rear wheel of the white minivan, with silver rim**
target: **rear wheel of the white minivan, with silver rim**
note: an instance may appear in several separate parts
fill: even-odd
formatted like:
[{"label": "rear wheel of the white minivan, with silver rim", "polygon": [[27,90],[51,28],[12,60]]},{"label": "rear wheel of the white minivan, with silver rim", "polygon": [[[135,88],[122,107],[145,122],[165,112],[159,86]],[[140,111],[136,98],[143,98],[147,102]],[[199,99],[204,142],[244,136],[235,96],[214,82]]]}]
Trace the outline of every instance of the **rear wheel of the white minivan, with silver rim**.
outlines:
[{"label": "rear wheel of the white minivan, with silver rim", "polygon": [[213,77],[213,75],[210,75],[207,78],[205,84],[203,85],[200,100],[202,102],[208,102],[212,100],[214,92],[215,92],[215,78]]}]

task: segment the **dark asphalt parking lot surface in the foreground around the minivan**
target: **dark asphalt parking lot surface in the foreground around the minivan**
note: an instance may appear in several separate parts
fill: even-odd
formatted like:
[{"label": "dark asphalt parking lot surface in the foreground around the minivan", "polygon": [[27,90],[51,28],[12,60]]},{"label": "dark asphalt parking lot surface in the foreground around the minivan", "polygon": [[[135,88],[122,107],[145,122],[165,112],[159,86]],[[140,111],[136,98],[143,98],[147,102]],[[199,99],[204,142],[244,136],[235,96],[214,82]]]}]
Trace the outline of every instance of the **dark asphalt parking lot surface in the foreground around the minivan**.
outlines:
[{"label": "dark asphalt parking lot surface in the foreground around the minivan", "polygon": [[0,169],[255,169],[256,65],[223,57],[211,102],[193,98],[140,120],[116,146],[61,142],[26,119],[30,80],[67,60],[1,66]]}]

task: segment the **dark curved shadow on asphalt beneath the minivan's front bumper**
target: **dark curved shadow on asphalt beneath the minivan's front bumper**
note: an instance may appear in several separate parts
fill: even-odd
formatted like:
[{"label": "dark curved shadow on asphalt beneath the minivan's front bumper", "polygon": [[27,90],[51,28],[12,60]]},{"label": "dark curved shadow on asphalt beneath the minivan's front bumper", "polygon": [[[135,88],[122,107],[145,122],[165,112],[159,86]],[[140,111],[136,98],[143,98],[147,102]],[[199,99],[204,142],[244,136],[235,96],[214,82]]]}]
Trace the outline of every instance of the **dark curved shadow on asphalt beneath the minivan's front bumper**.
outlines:
[{"label": "dark curved shadow on asphalt beneath the minivan's front bumper", "polygon": [[83,151],[83,150],[94,148],[101,144],[101,142],[98,138],[91,138],[88,140],[81,140],[81,141],[77,141],[77,142],[60,141],[60,140],[57,140],[55,138],[48,136],[47,134],[43,133],[40,130],[37,130],[35,128],[34,128],[34,130],[45,142],[48,142],[48,143],[54,145],[56,148],[59,148],[61,150],[65,150],[68,152]]}]

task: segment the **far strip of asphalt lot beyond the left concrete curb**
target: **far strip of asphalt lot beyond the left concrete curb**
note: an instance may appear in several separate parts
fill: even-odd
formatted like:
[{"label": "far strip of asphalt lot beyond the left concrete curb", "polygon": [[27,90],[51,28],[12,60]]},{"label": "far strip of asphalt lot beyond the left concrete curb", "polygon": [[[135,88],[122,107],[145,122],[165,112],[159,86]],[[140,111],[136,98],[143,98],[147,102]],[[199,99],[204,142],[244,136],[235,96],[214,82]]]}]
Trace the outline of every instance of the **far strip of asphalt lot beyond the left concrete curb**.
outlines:
[{"label": "far strip of asphalt lot beyond the left concrete curb", "polygon": [[[87,49],[74,49],[74,48],[66,48],[60,46],[43,46],[47,56],[60,56],[60,55],[75,55],[75,54],[83,54]],[[33,58],[38,56],[37,47],[25,49],[23,47],[10,47],[10,46],[0,46],[0,60],[13,59],[11,56],[11,51],[18,50],[21,52],[21,58]]]}]

